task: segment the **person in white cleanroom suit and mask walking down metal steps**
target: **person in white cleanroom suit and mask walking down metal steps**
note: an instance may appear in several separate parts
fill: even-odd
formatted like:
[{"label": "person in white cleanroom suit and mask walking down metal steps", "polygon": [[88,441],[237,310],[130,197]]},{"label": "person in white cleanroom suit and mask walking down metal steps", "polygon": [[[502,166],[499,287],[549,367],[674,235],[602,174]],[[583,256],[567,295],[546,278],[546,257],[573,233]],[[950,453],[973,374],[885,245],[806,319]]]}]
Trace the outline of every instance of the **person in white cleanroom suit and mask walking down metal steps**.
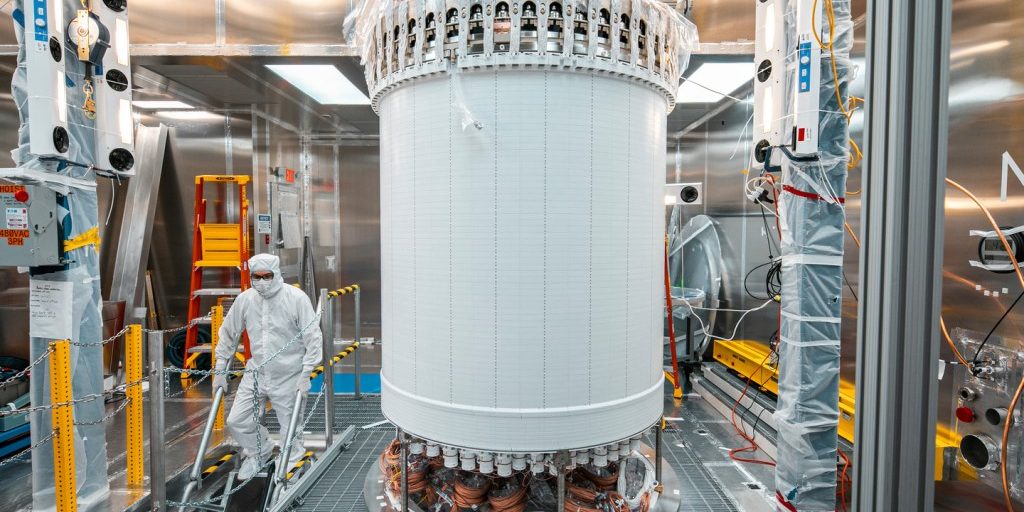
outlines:
[{"label": "person in white cleanroom suit and mask walking down metal steps", "polygon": [[[249,282],[252,288],[238,296],[220,327],[215,368],[218,371],[226,368],[234,356],[242,331],[248,332],[252,358],[246,368],[260,370],[256,375],[247,372],[242,378],[226,421],[228,433],[245,455],[239,470],[240,480],[256,474],[273,447],[266,427],[256,422],[254,398],[259,413],[269,399],[278,423],[288,425],[292,410],[303,407],[301,402],[296,403],[296,390],[309,391],[309,373],[323,359],[316,313],[306,294],[298,288],[285,286],[281,278],[281,260],[270,254],[250,258]],[[274,357],[279,351],[281,353]],[[269,357],[273,358],[268,360]],[[214,375],[213,389],[218,387],[227,391],[226,375]],[[300,436],[293,443],[289,466],[298,462],[302,454]]]}]

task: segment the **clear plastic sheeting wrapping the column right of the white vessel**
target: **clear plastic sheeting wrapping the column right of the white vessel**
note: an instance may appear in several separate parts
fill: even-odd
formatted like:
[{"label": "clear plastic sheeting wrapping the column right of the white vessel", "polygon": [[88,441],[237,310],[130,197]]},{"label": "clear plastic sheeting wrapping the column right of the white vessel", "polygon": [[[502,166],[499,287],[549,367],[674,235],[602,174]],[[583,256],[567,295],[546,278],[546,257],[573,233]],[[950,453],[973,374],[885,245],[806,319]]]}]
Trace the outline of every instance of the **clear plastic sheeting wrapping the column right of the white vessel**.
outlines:
[{"label": "clear plastic sheeting wrapping the column right of the white vessel", "polygon": [[[796,2],[786,12],[786,82],[797,75]],[[839,424],[840,322],[843,297],[843,244],[849,153],[846,101],[852,80],[853,23],[849,0],[833,0],[835,28],[822,15],[822,42],[835,45],[835,62],[821,49],[818,158],[786,159],[779,216],[782,236],[782,317],[779,398],[775,412],[778,460],[775,485],[780,509],[836,510]],[[827,6],[825,7],[827,8]],[[805,15],[806,13],[801,13]],[[834,80],[833,66],[837,71]],[[792,101],[792,97],[790,98]],[[788,104],[784,112],[792,113]],[[788,118],[785,133],[793,130]]]}]

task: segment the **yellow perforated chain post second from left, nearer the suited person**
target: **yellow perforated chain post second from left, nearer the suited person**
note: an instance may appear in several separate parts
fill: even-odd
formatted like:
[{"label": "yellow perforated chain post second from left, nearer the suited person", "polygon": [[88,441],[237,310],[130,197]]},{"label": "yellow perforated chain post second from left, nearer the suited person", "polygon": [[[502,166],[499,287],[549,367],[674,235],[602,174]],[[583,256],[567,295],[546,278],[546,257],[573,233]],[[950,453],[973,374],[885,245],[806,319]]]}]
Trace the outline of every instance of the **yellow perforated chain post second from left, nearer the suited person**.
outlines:
[{"label": "yellow perforated chain post second from left, nearer the suited person", "polygon": [[142,454],[142,326],[128,326],[125,336],[125,395],[128,411],[125,414],[126,460],[128,485],[141,485],[145,476]]}]

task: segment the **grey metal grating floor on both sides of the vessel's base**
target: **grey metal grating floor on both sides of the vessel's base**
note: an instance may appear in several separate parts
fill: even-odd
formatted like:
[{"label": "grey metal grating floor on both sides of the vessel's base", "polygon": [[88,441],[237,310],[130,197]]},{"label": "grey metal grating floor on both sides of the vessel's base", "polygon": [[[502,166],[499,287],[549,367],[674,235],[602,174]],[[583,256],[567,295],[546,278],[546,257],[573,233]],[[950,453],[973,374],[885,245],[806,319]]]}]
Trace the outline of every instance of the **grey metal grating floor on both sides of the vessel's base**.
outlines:
[{"label": "grey metal grating floor on both sides of the vessel's base", "polygon": [[[361,400],[339,396],[336,407],[339,428],[355,425],[355,437],[331,466],[310,475],[316,481],[297,510],[366,512],[364,479],[394,438],[394,428],[389,423],[378,425],[384,421],[379,396],[367,395]],[[762,482],[770,482],[772,472],[739,467],[728,459],[728,449],[733,446],[724,445],[721,440],[728,444],[735,444],[736,440],[726,430],[728,423],[724,419],[696,396],[688,396],[679,407],[670,401],[666,409],[672,419],[664,436],[664,447],[666,459],[680,479],[683,510],[771,510],[767,486]],[[373,426],[361,428],[368,425]]]}]

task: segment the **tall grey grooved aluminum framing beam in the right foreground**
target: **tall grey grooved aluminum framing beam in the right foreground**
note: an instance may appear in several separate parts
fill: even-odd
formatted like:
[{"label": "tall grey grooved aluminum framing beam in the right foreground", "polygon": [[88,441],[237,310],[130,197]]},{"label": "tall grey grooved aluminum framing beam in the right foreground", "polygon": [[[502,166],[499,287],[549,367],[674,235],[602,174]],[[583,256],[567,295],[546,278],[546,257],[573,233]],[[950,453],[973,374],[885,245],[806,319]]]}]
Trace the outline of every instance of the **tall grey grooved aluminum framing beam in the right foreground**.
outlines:
[{"label": "tall grey grooved aluminum framing beam in the right foreground", "polygon": [[853,510],[932,510],[951,0],[868,0]]}]

